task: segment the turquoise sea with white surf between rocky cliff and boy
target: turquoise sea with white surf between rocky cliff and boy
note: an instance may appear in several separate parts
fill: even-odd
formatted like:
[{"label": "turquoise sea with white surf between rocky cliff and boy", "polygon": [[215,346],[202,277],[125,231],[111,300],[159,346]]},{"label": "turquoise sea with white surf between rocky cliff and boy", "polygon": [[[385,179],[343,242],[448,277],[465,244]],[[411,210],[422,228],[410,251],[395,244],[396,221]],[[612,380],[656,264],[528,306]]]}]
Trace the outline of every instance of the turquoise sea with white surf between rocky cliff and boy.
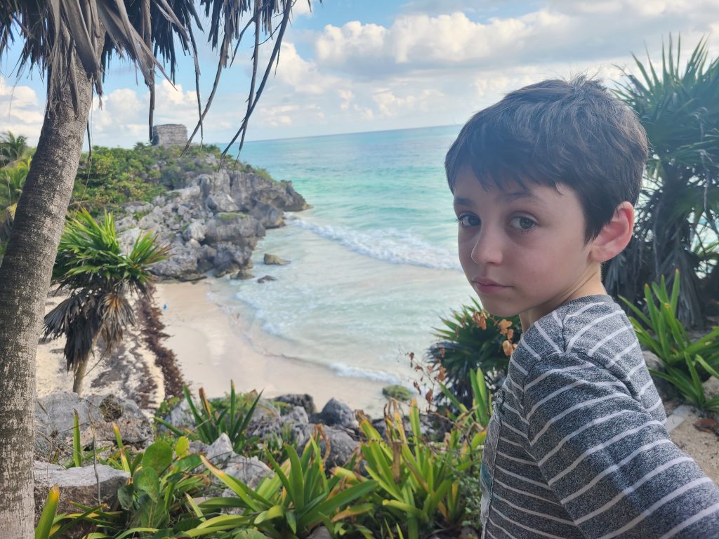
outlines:
[{"label": "turquoise sea with white surf between rocky cliff and boy", "polygon": [[[242,160],[291,180],[311,203],[267,232],[257,277],[215,282],[272,354],[347,377],[411,384],[439,316],[472,290],[457,261],[457,222],[443,160],[458,126],[249,142]],[[265,266],[265,252],[291,261]]]}]

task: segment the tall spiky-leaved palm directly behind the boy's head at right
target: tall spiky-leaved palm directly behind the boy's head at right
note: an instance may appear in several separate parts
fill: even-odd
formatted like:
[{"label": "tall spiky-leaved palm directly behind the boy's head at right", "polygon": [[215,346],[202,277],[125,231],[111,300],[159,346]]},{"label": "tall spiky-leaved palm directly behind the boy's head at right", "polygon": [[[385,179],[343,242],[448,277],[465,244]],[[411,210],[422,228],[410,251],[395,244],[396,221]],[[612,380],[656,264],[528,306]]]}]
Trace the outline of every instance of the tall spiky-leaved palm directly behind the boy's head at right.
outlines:
[{"label": "tall spiky-leaved palm directly behind the boy's head at right", "polygon": [[613,295],[641,305],[644,283],[674,280],[679,270],[679,318],[705,321],[719,297],[719,58],[707,61],[706,40],[682,69],[676,52],[662,50],[661,68],[636,56],[640,75],[626,73],[618,95],[646,129],[651,146],[634,239],[608,264],[605,285]]}]

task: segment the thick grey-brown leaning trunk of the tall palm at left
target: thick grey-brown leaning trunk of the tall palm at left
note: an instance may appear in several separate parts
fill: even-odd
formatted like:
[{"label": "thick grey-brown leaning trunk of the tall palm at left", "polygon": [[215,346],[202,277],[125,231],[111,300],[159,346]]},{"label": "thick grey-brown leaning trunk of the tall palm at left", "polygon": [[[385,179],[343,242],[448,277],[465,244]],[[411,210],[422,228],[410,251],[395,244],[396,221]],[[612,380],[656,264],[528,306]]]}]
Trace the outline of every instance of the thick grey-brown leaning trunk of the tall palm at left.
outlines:
[{"label": "thick grey-brown leaning trunk of the tall palm at left", "polygon": [[67,84],[55,96],[55,109],[46,106],[0,265],[0,530],[9,538],[34,535],[35,353],[93,96],[77,62],[74,75],[77,111]]}]

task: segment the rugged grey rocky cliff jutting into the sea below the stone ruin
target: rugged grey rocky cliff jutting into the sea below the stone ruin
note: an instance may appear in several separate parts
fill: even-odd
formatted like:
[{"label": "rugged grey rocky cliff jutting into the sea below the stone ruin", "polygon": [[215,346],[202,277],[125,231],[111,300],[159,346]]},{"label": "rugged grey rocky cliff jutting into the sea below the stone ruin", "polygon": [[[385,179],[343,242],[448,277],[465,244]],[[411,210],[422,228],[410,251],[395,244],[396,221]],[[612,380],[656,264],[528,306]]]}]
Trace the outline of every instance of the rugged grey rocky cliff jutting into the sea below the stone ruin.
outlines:
[{"label": "rugged grey rocky cliff jutting into the sea below the stone ruin", "polygon": [[284,225],[285,211],[311,206],[290,182],[253,172],[219,170],[214,155],[203,157],[214,172],[183,174],[175,189],[152,203],[129,203],[116,222],[122,242],[132,245],[142,231],[153,231],[170,244],[170,258],[152,267],[163,279],[196,280],[207,272],[221,277],[242,275],[251,267],[252,249],[266,229]]}]

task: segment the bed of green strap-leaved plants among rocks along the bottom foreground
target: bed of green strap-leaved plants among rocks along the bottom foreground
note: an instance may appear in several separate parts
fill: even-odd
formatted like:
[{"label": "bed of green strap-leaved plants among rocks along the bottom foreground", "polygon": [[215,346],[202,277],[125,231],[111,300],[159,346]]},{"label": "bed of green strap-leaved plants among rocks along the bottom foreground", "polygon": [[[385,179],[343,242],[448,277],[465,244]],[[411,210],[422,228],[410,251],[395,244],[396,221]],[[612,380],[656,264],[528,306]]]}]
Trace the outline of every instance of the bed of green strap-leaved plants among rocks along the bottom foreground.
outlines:
[{"label": "bed of green strap-leaved plants among rocks along the bottom foreground", "polygon": [[[362,416],[358,450],[333,469],[326,469],[326,454],[320,449],[325,439],[321,428],[303,448],[285,444],[282,460],[263,451],[258,438],[246,431],[257,394],[236,395],[231,387],[224,399],[201,398],[204,411],[193,411],[194,428],[158,431],[143,451],[124,446],[115,427],[116,444],[96,456],[132,478],[118,490],[114,507],[76,505],[77,512],[55,515],[58,493],[51,489],[37,533],[60,538],[85,522],[92,527],[88,538],[94,539],[304,539],[320,526],[331,537],[419,539],[441,532],[457,536],[462,525],[474,523],[476,515],[468,508],[479,505],[478,492],[464,486],[465,477],[477,474],[482,456],[486,423],[477,423],[477,418],[488,420],[488,393],[481,372],[475,373],[475,382],[483,388],[477,389],[482,402],[475,402],[471,410],[464,408],[461,417],[452,418],[452,428],[434,438],[422,427],[414,402],[408,417],[399,402],[390,402],[384,435]],[[190,407],[196,405],[189,392],[184,397]],[[252,404],[242,408],[239,402]],[[477,410],[480,415],[475,415]],[[203,430],[209,425],[239,425],[234,438],[252,439],[255,454],[272,473],[251,487],[191,452],[191,439],[206,436]],[[68,466],[86,461],[77,423],[74,430],[77,442]],[[231,494],[219,497],[217,482]]]}]

